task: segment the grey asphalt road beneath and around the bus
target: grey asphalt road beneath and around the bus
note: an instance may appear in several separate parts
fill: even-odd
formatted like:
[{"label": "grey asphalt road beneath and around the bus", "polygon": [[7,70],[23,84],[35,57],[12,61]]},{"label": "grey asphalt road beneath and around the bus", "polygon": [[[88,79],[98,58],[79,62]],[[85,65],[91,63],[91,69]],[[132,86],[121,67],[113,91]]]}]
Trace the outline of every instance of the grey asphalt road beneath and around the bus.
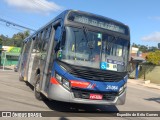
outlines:
[{"label": "grey asphalt road beneath and around the bus", "polygon": [[[127,99],[125,105],[83,105],[57,101],[38,101],[34,97],[33,88],[25,82],[18,80],[18,73],[13,71],[0,71],[0,111],[52,111],[52,116],[59,120],[97,119],[103,116],[105,119],[110,111],[160,111],[160,90],[128,83]],[[97,114],[97,112],[104,114]],[[79,112],[87,112],[80,114]],[[105,113],[106,112],[106,113]],[[81,118],[81,116],[86,116]],[[68,117],[64,117],[68,116]],[[89,117],[89,118],[88,118]],[[103,119],[104,119],[103,118]],[[1,119],[1,118],[0,118]],[[48,118],[51,119],[51,118]],[[123,119],[116,117],[116,119]],[[132,120],[134,117],[125,117]],[[151,117],[139,117],[136,119],[151,119]],[[158,119],[153,117],[153,119]]]}]

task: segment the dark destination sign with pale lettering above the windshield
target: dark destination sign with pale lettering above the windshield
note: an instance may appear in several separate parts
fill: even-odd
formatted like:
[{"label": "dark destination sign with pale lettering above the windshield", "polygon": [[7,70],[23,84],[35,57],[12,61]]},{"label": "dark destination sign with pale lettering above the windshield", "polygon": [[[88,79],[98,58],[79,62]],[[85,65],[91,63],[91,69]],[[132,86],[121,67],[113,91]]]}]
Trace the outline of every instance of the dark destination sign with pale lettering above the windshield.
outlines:
[{"label": "dark destination sign with pale lettering above the windshield", "polygon": [[78,22],[78,23],[83,23],[95,27],[100,27],[103,29],[119,32],[126,34],[127,28],[122,25],[117,25],[113,21],[109,21],[105,18],[102,17],[96,17],[96,16],[87,16],[85,14],[80,14],[80,13],[71,13],[68,17],[69,20]]}]

